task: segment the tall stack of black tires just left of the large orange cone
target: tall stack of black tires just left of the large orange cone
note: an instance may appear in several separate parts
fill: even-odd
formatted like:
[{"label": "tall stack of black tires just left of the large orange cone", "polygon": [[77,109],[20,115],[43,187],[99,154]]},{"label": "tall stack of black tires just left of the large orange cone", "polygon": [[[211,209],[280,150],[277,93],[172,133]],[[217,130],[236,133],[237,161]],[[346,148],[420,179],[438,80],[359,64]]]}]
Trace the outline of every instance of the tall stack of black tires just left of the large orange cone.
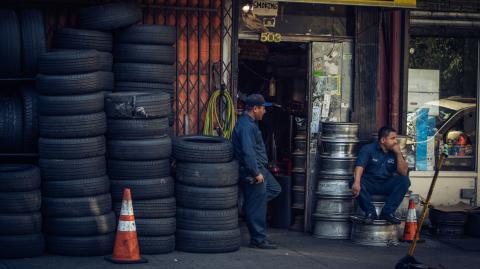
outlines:
[{"label": "tall stack of black tires just left of the large orange cone", "polygon": [[47,250],[60,255],[104,255],[113,248],[98,59],[95,50],[61,50],[39,58],[44,232]]}]

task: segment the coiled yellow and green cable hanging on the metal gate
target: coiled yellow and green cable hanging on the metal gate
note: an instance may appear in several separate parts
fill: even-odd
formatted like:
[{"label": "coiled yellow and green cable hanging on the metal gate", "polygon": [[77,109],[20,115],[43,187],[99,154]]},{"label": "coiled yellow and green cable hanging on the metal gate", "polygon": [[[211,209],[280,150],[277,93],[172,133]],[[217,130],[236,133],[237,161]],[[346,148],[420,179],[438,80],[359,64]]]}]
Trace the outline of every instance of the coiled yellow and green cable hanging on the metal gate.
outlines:
[{"label": "coiled yellow and green cable hanging on the metal gate", "polygon": [[[225,98],[225,102],[222,102],[222,98]],[[219,104],[220,102],[220,104]],[[224,120],[221,120],[218,113],[220,105],[224,104]],[[236,114],[233,99],[230,93],[227,91],[216,90],[210,96],[208,101],[207,114],[205,116],[205,124],[203,126],[204,135],[221,135],[226,139],[230,139],[235,128]],[[220,134],[217,132],[215,123],[220,129]],[[223,124],[222,124],[223,123]]]}]

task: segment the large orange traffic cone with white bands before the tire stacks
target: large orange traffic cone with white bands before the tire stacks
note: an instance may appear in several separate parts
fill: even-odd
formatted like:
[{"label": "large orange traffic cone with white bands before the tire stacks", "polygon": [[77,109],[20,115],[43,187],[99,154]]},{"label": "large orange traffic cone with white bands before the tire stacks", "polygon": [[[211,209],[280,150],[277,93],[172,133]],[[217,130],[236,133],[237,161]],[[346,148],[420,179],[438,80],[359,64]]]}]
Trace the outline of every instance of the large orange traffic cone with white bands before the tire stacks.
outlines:
[{"label": "large orange traffic cone with white bands before the tire stacks", "polygon": [[105,259],[113,263],[148,262],[140,256],[135,217],[133,216],[132,194],[129,188],[123,190],[122,209],[118,221],[113,255],[107,256]]}]

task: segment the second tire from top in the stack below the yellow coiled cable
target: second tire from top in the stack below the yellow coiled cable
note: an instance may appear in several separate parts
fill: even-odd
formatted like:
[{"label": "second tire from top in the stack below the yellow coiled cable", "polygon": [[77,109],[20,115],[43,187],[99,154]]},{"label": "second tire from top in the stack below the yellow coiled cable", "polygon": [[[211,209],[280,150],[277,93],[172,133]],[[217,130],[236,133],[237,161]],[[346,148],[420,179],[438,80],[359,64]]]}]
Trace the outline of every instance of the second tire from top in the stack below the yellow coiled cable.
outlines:
[{"label": "second tire from top in the stack below the yellow coiled cable", "polygon": [[182,184],[199,187],[224,187],[238,184],[238,162],[177,163],[175,178]]}]

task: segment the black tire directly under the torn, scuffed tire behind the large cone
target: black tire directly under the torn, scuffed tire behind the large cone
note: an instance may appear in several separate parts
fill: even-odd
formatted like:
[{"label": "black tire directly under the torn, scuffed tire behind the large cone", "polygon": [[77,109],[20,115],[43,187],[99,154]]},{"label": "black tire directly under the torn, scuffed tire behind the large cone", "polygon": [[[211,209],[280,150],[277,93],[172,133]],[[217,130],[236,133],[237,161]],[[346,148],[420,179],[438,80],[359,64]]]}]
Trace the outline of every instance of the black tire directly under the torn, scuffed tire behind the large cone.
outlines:
[{"label": "black tire directly under the torn, scuffed tire behind the large cone", "polygon": [[169,132],[168,119],[108,119],[108,137],[111,139],[144,139],[165,136]]}]

